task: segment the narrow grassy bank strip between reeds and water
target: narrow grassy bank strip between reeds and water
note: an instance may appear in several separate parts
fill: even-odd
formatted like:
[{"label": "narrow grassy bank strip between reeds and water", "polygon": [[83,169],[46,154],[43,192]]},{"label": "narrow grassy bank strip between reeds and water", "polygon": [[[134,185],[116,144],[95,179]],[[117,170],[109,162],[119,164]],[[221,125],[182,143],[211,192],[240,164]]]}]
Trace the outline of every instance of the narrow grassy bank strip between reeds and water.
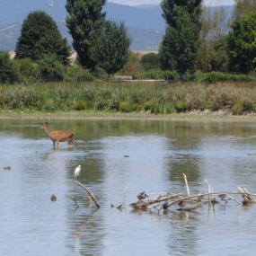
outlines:
[{"label": "narrow grassy bank strip between reeds and water", "polygon": [[142,112],[110,112],[110,111],[56,111],[42,112],[31,110],[0,110],[0,119],[146,119],[146,120],[198,120],[198,121],[250,121],[256,122],[256,113],[232,115],[228,110],[199,111],[152,114]]}]

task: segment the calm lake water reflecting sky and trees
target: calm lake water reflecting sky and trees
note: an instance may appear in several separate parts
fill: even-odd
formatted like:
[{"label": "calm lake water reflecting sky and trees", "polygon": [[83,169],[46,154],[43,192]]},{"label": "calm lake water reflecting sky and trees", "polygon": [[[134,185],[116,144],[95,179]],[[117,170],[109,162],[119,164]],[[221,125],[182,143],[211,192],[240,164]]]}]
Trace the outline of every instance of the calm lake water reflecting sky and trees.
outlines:
[{"label": "calm lake water reflecting sky and trees", "polygon": [[[182,173],[190,193],[206,193],[205,180],[215,192],[256,193],[256,122],[52,119],[50,130],[73,130],[78,144],[54,148],[42,121],[0,119],[0,255],[254,255],[253,205],[174,205],[158,215],[129,204],[142,191],[186,193]],[[78,164],[77,181],[100,208],[75,184]]]}]

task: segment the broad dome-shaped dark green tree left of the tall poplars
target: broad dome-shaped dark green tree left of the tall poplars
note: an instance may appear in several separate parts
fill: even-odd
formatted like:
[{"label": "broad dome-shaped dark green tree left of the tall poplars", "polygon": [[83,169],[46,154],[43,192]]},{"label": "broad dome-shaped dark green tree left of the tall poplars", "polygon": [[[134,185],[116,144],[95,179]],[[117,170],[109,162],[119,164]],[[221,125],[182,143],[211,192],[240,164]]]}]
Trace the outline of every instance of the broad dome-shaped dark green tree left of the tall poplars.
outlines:
[{"label": "broad dome-shaped dark green tree left of the tall poplars", "polygon": [[54,55],[63,64],[69,62],[70,47],[57,29],[56,22],[45,12],[29,13],[22,24],[22,35],[16,43],[15,58],[40,59]]}]

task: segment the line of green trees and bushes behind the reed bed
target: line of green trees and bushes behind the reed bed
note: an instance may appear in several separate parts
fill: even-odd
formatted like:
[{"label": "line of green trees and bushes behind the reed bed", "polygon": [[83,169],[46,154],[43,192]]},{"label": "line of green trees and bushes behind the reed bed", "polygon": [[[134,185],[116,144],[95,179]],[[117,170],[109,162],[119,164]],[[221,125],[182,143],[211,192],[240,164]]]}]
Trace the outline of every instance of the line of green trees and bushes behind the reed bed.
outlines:
[{"label": "line of green trees and bushes behind the reed bed", "polygon": [[[203,0],[163,0],[166,30],[159,54],[144,57],[146,69],[160,68],[180,75],[219,71],[254,74],[256,67],[256,0],[235,0],[231,20],[222,6]],[[71,67],[71,47],[47,13],[29,13],[22,24],[12,62],[0,51],[0,83],[13,84],[31,75],[35,80],[102,78],[136,66],[130,61],[131,39],[124,22],[106,20],[106,0],[66,0],[66,27],[77,52]],[[157,65],[155,65],[157,63]],[[22,75],[21,75],[22,74]],[[20,77],[21,76],[21,77]]]}]

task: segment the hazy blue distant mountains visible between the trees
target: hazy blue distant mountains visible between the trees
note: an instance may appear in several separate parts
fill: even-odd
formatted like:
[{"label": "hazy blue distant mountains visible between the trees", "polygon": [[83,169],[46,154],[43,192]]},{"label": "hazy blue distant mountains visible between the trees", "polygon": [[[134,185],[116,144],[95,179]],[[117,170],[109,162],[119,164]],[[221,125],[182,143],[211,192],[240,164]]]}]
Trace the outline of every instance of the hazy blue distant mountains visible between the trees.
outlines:
[{"label": "hazy blue distant mountains visible between the trees", "polygon": [[[71,44],[71,37],[66,29],[66,0],[52,0],[53,17],[59,31]],[[15,43],[20,36],[22,22],[32,11],[48,12],[49,0],[2,0],[0,1],[0,49],[14,50]],[[233,12],[233,5],[225,6],[229,15]],[[108,2],[103,7],[107,19],[124,21],[128,33],[132,37],[132,50],[158,50],[163,39],[165,22],[163,10],[158,4],[140,4],[129,6]]]}]

